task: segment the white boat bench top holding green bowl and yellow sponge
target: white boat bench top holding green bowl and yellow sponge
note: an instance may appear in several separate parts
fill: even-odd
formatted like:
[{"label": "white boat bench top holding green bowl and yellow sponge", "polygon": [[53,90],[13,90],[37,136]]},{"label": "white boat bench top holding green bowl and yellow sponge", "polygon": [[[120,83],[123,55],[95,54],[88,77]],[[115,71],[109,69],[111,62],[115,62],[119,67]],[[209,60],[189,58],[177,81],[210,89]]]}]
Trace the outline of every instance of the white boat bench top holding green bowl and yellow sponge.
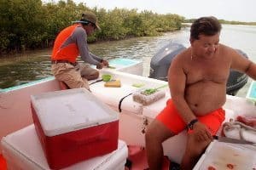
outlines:
[{"label": "white boat bench top holding green bowl and yellow sponge", "polygon": [[[98,99],[101,99],[105,104],[111,106],[115,111],[122,113],[133,113],[142,116],[143,110],[146,106],[134,101],[132,94],[136,93],[137,90],[142,88],[157,88],[167,84],[167,82],[160,80],[148,77],[140,77],[119,71],[100,71],[100,77],[102,77],[104,74],[111,75],[112,80],[119,80],[121,82],[121,87],[106,88],[104,86],[105,82],[97,82],[97,80],[91,80],[89,81],[90,91],[92,94],[95,94]],[[133,86],[133,84],[136,83],[143,84],[143,87],[137,88],[136,86]],[[167,89],[166,91],[169,90]],[[170,98],[170,95],[169,97],[166,95],[165,99],[168,98]]]}]

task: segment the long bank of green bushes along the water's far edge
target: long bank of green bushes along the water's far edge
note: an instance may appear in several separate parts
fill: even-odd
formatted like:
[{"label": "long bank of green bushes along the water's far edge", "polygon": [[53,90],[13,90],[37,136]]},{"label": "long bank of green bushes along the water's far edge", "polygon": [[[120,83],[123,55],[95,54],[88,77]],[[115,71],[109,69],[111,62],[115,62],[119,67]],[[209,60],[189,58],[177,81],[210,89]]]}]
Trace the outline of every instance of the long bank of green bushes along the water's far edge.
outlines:
[{"label": "long bank of green bushes along the water's far edge", "polygon": [[94,12],[102,28],[89,37],[88,42],[156,36],[162,31],[181,29],[184,20],[177,14],[154,14],[147,10],[138,13],[137,9],[88,8],[85,3],[76,4],[73,0],[58,3],[1,0],[0,53],[50,47],[56,35],[72,21],[79,20],[84,11]]}]

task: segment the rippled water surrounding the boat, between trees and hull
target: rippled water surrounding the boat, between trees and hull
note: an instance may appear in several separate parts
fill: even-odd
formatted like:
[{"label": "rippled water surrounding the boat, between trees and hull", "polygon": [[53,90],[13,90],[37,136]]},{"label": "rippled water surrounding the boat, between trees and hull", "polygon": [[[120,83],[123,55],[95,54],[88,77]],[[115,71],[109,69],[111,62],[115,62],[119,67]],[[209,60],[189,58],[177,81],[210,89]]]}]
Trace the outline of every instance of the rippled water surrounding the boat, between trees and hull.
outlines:
[{"label": "rippled water surrounding the boat, between trees and hull", "polygon": [[[90,51],[104,59],[128,58],[143,60],[143,76],[149,75],[151,57],[169,42],[182,43],[189,47],[189,27],[181,31],[168,32],[160,37],[137,37],[115,42],[90,44]],[[241,49],[256,62],[256,26],[224,25],[220,42]],[[51,48],[26,52],[12,57],[0,58],[0,88],[9,88],[52,76],[50,72]],[[249,82],[252,80],[249,79]],[[238,96],[245,97],[249,82]]]}]

